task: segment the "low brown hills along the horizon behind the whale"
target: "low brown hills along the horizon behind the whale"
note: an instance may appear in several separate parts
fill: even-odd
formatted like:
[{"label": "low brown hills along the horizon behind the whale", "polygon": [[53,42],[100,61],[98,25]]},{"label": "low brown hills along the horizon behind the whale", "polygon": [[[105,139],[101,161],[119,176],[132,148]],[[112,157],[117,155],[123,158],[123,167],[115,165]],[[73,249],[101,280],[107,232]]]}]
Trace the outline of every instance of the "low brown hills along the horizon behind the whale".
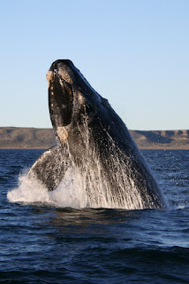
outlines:
[{"label": "low brown hills along the horizon behind the whale", "polygon": [[[189,149],[189,130],[130,130],[142,149]],[[0,127],[0,148],[49,148],[55,145],[52,129]]]}]

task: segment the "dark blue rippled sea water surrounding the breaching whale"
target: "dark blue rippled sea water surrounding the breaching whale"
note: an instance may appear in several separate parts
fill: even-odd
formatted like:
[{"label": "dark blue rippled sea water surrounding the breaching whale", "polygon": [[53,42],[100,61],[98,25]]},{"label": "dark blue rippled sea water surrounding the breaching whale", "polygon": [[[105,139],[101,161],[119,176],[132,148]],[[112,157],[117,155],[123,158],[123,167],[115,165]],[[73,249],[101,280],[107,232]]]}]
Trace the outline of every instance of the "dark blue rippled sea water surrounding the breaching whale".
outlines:
[{"label": "dark blue rippled sea water surrounding the breaching whale", "polygon": [[0,150],[0,283],[189,283],[189,151],[142,151],[168,210],[61,207],[30,185],[23,194],[42,152]]}]

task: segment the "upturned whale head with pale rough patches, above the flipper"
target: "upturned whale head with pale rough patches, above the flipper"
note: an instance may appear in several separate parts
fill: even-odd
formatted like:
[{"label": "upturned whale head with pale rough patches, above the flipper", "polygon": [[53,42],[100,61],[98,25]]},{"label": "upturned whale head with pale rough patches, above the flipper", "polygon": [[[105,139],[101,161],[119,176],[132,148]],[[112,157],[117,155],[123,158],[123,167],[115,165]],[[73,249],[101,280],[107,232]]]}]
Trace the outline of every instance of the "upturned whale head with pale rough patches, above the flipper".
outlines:
[{"label": "upturned whale head with pale rough patches, above the flipper", "polygon": [[[62,143],[73,127],[91,120],[101,109],[102,97],[91,87],[71,60],[58,59],[47,73],[49,114]],[[103,102],[104,103],[104,102]]]}]

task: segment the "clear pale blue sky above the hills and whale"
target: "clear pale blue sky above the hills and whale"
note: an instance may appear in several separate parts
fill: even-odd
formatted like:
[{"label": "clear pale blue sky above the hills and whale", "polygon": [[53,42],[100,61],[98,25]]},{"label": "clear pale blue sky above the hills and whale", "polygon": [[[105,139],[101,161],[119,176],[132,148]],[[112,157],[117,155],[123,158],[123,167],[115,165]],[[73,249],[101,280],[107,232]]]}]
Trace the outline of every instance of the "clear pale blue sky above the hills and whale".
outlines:
[{"label": "clear pale blue sky above the hills and whale", "polygon": [[45,75],[72,59],[129,129],[189,129],[188,0],[0,0],[0,29],[0,126],[51,127]]}]

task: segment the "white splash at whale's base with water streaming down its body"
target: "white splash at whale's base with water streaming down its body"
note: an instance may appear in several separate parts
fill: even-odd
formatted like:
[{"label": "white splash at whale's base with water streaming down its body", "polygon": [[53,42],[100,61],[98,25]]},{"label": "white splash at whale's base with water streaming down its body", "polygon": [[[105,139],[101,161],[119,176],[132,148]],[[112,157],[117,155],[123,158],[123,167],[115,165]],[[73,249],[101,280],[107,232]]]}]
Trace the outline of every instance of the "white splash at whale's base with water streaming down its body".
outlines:
[{"label": "white splash at whale's base with water streaming down its body", "polygon": [[[23,175],[19,177],[19,186],[7,193],[8,200],[72,208],[155,208],[155,197],[147,193],[147,186],[139,187],[138,178],[134,177],[140,174],[136,169],[131,169],[130,158],[117,149],[113,139],[109,137],[110,145],[104,146],[108,148],[108,158],[102,162],[91,139],[87,118],[82,129],[78,125],[78,130],[84,145],[83,149],[79,149],[82,153],[81,164],[75,162],[70,145],[66,142],[71,163],[57,189],[49,192],[34,175]],[[57,163],[59,167],[60,161]]]}]

